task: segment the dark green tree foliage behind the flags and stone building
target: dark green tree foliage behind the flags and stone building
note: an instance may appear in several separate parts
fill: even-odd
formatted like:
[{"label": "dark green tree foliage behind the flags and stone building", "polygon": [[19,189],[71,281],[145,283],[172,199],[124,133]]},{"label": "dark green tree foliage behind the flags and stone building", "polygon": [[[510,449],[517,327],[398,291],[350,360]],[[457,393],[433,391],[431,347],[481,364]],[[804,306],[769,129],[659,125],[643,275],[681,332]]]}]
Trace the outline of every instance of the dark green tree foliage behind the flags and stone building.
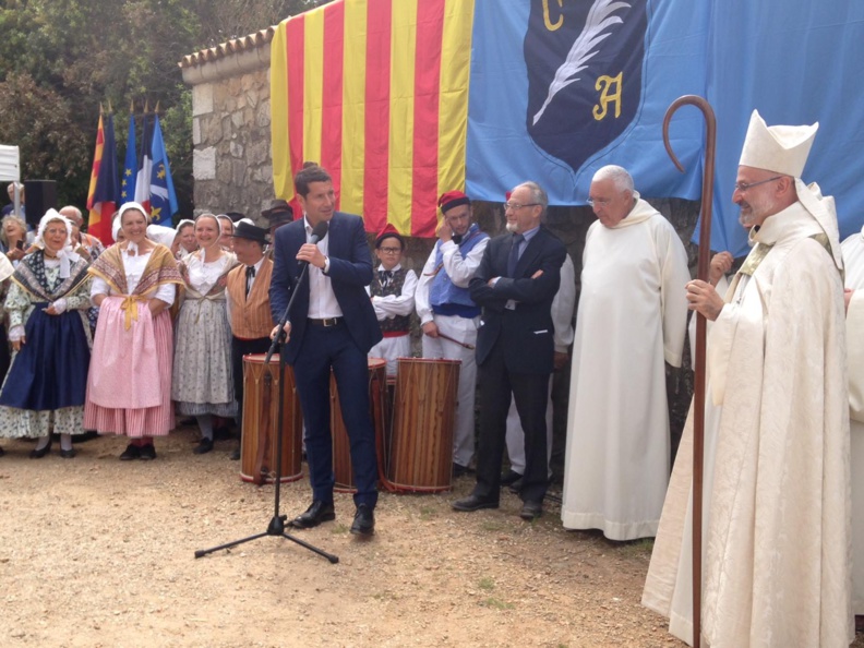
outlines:
[{"label": "dark green tree foliage behind the flags and stone building", "polygon": [[175,219],[189,216],[192,95],[178,61],[327,1],[0,2],[0,143],[21,147],[24,179],[56,180],[58,203],[83,208],[99,106],[113,108],[122,168],[130,107],[141,115],[158,103],[180,202]]}]

